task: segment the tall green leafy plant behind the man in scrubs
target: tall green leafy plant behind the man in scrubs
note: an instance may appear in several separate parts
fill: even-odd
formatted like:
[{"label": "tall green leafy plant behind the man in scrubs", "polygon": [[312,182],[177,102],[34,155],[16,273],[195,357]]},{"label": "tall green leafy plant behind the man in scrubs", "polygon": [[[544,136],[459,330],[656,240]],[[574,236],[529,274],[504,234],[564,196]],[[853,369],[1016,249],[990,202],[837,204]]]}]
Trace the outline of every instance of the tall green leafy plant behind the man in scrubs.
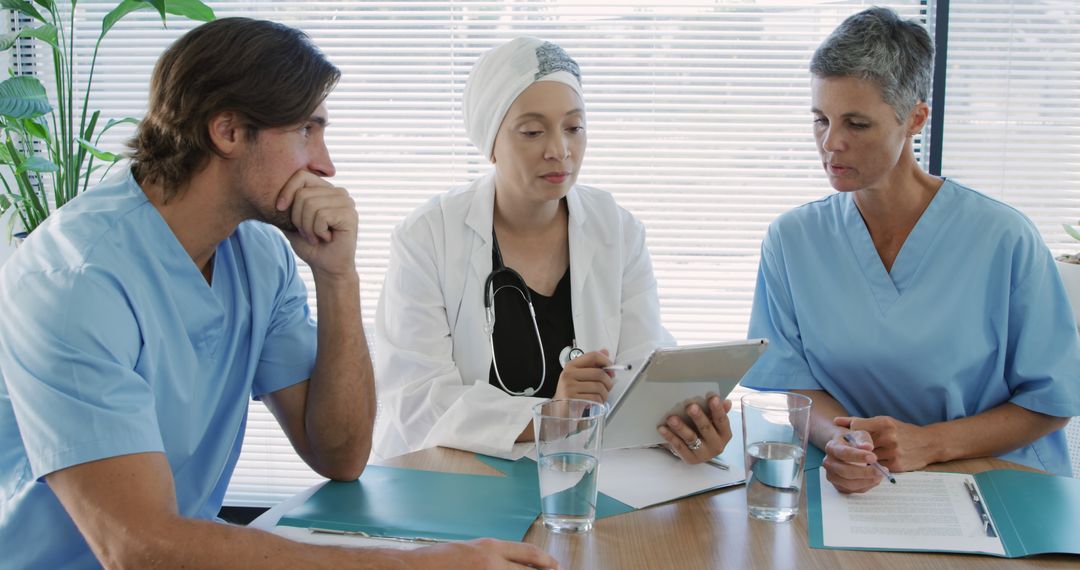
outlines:
[{"label": "tall green leafy plant behind the man in scrubs", "polygon": [[[57,4],[69,4],[63,10]],[[9,235],[25,238],[49,217],[100,179],[121,160],[118,153],[98,147],[102,135],[118,124],[137,123],[134,118],[102,120],[99,110],[90,110],[90,91],[102,40],[121,18],[139,10],[201,22],[214,19],[214,11],[200,0],[124,0],[102,21],[94,44],[90,72],[76,73],[75,11],[78,0],[0,0],[0,6],[23,14],[32,25],[0,36],[0,51],[10,50],[23,38],[32,39],[51,56],[55,105],[44,84],[33,76],[11,77],[0,82],[0,217],[11,214]],[[77,84],[77,81],[79,82]],[[82,104],[79,98],[82,98]],[[103,124],[104,123],[104,124]],[[22,231],[17,231],[21,226]],[[21,235],[19,235],[21,234]],[[16,245],[17,245],[16,240]]]}]

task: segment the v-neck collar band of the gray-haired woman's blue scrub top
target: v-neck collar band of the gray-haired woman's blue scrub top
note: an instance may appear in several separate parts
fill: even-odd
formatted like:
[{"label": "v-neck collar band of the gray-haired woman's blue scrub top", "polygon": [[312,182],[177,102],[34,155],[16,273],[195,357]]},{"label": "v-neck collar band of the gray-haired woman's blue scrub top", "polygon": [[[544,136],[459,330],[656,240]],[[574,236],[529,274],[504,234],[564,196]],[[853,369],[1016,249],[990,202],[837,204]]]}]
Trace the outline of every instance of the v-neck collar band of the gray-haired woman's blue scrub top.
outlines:
[{"label": "v-neck collar band of the gray-haired woman's blue scrub top", "polygon": [[943,226],[949,211],[948,203],[953,201],[954,194],[951,182],[945,180],[930,200],[927,209],[919,216],[915,228],[904,240],[896,259],[892,262],[891,272],[886,271],[885,263],[881,262],[881,256],[874,246],[866,221],[855,205],[854,194],[848,192],[840,195],[840,209],[848,241],[882,313],[888,312],[912,286],[934,238]]}]

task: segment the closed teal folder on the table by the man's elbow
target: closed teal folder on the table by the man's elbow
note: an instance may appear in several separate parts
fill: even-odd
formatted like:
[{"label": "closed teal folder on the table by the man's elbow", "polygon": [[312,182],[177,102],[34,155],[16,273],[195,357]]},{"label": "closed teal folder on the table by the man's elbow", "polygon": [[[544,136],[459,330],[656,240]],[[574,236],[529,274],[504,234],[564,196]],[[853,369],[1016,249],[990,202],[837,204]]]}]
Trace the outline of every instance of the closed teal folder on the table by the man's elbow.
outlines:
[{"label": "closed teal folder on the table by the man's elbow", "polygon": [[540,493],[512,477],[368,465],[329,481],[279,525],[373,537],[519,541],[540,515]]}]

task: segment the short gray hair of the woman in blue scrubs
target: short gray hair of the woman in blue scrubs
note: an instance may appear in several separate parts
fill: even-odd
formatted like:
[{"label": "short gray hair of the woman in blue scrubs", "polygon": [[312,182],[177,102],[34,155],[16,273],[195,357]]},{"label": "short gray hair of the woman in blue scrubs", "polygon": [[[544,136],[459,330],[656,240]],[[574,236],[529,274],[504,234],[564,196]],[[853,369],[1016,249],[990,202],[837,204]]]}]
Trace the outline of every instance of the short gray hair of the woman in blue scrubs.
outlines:
[{"label": "short gray hair of the woman in blue scrubs", "polygon": [[934,42],[919,23],[875,6],[849,16],[818,46],[810,72],[873,81],[903,122],[930,96]]}]

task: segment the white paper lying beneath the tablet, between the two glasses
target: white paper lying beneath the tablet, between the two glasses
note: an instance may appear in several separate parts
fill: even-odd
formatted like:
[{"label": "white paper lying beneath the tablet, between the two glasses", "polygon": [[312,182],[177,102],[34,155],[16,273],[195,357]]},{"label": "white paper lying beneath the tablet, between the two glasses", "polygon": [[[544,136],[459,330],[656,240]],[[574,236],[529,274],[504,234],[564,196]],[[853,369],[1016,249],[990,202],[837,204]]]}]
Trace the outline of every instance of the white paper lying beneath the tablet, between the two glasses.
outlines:
[{"label": "white paper lying beneath the tablet, between the two glasses", "polygon": [[746,480],[740,466],[688,465],[666,449],[608,449],[600,456],[597,489],[634,508],[664,503]]}]

